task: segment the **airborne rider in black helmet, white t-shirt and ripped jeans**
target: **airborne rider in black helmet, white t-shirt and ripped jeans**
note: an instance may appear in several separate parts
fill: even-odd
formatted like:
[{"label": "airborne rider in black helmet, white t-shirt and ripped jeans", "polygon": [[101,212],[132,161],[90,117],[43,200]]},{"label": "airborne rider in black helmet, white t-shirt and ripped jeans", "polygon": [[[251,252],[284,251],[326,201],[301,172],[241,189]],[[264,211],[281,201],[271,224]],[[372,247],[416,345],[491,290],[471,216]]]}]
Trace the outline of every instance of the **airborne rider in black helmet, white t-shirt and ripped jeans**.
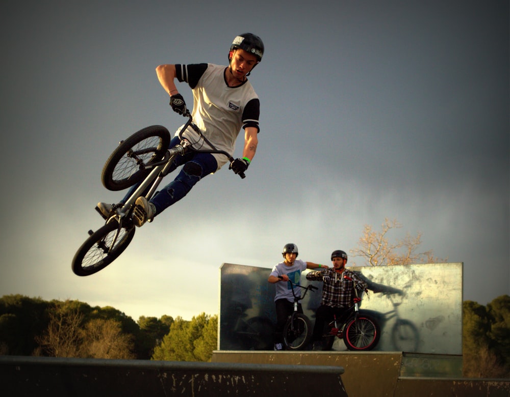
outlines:
[{"label": "airborne rider in black helmet, white t-shirt and ripped jeans", "polygon": [[[156,68],[161,86],[170,95],[170,106],[179,114],[186,114],[188,109],[174,80],[188,83],[193,92],[193,121],[216,149],[232,155],[239,131],[244,129],[243,157],[235,159],[229,166],[236,174],[246,171],[257,150],[260,102],[247,76],[262,61],[263,54],[264,44],[260,37],[244,33],[237,36],[230,47],[228,66],[167,64]],[[174,136],[170,148],[179,143],[179,137]],[[143,196],[137,199],[135,204],[143,211],[140,211],[141,218],[134,218],[135,224],[141,226],[159,215],[181,200],[200,179],[218,171],[226,162],[227,158],[221,154],[190,152],[177,156],[171,171],[184,165],[181,172],[150,201]],[[112,211],[112,205],[106,203],[98,203],[97,208],[105,216]]]}]

